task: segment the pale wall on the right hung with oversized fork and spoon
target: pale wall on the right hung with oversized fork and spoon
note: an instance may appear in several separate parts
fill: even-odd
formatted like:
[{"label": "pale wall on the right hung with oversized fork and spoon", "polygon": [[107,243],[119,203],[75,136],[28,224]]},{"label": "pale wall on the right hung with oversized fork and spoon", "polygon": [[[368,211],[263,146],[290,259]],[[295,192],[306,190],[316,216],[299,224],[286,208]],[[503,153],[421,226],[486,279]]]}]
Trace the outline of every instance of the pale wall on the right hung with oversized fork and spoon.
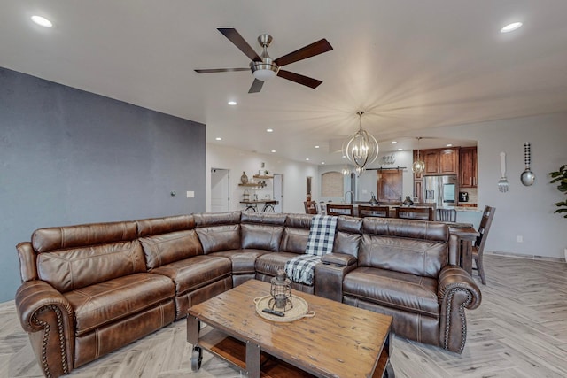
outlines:
[{"label": "pale wall on the right hung with oversized fork and spoon", "polygon": [[[555,202],[564,199],[548,173],[567,164],[567,112],[498,120],[427,130],[423,136],[478,141],[478,206],[495,206],[486,240],[488,251],[563,258],[567,248],[567,220],[554,214]],[[532,143],[530,187],[520,182],[524,171],[524,142]],[[509,191],[501,193],[500,152],[506,152]],[[517,243],[517,236],[524,242]]]}]

